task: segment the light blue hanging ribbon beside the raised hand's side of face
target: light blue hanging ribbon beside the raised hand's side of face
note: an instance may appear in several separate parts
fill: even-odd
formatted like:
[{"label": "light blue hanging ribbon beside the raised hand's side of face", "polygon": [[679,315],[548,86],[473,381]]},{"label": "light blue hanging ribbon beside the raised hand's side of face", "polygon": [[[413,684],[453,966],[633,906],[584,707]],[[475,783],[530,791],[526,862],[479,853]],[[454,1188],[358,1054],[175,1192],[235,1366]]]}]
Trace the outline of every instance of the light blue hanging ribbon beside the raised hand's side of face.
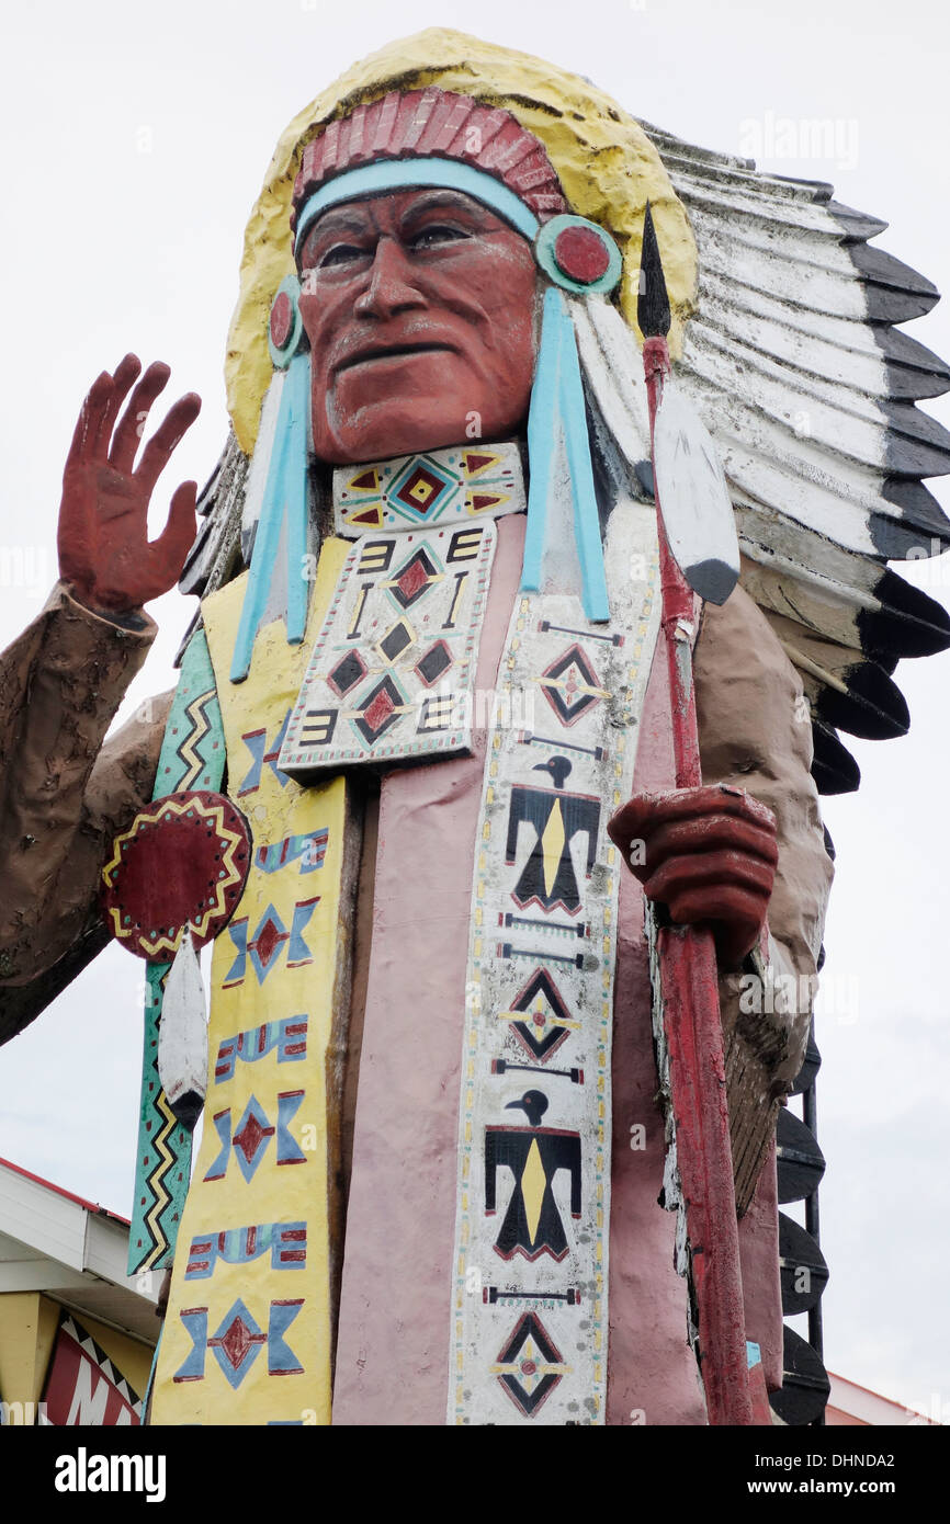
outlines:
[{"label": "light blue hanging ribbon beside the raised hand's side of face", "polygon": [[310,408],[310,354],[294,355],[281,393],[274,445],[261,501],[261,517],[250,558],[241,623],[230,664],[232,683],[250,671],[255,637],[267,610],[281,536],[287,549],[287,640],[296,646],[307,629],[307,428]]}]

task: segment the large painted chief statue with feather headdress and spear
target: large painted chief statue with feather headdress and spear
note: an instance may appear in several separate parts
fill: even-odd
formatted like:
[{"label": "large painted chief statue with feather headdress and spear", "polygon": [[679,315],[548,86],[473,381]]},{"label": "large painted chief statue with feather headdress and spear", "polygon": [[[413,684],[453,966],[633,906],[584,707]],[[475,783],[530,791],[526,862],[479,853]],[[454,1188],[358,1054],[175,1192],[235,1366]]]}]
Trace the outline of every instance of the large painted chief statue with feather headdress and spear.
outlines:
[{"label": "large painted chief statue with feather headdress and spear", "polygon": [[197,541],[191,486],[143,527],[197,399],[136,466],[166,369],[93,386],[3,658],[0,1020],[148,959],[152,1422],[767,1422],[816,785],[948,643],[886,567],[948,456],[881,226],[425,32],[278,145]]}]

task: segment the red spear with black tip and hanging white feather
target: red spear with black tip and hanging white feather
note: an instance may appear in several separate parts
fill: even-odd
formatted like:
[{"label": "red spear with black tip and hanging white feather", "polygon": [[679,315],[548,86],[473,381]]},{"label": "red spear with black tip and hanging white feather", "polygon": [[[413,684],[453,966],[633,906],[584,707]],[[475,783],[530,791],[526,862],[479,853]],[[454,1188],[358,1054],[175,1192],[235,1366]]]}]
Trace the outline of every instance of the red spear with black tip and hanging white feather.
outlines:
[{"label": "red spear with black tip and hanging white feather", "polygon": [[[738,581],[738,544],[715,447],[695,411],[669,381],[669,299],[650,203],[643,219],[637,323],[645,340],[643,373],[650,405],[676,786],[698,788],[701,771],[692,686],[692,594],[695,591],[715,604],[726,602]],[[657,954],[706,1408],[712,1425],[746,1425],[755,1420],[749,1394],[712,931],[700,927],[660,927]]]}]

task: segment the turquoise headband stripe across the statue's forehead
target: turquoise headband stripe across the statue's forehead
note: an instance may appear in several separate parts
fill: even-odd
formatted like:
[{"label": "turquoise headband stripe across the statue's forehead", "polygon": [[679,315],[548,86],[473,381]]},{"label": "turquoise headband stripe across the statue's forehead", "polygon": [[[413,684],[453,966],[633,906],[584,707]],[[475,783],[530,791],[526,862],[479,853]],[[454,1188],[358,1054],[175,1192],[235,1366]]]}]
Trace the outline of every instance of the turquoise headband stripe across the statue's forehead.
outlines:
[{"label": "turquoise headband stripe across the statue's forehead", "polygon": [[473,165],[461,165],[454,158],[383,158],[375,165],[348,169],[346,174],[314,190],[300,212],[294,253],[300,248],[300,239],[313,219],[328,207],[339,206],[342,201],[355,201],[364,195],[378,195],[383,190],[410,190],[422,186],[462,190],[465,195],[474,197],[476,201],[483,201],[506,223],[511,223],[518,233],[532,241],[541,226],[514,190]]}]

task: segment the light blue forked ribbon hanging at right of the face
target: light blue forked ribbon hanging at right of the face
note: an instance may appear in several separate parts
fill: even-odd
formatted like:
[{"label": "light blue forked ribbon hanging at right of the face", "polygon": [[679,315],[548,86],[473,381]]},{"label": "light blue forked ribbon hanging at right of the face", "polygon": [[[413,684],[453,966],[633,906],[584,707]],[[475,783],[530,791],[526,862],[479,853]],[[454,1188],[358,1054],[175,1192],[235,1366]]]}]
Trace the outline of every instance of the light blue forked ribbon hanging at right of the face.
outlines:
[{"label": "light blue forked ribbon hanging at right of the face", "polygon": [[592,623],[604,623],[610,619],[610,600],[607,597],[601,520],[593,489],[584,383],[581,381],[578,346],[567,303],[557,287],[549,287],[544,293],[541,343],[528,413],[531,482],[522,570],[523,593],[537,593],[541,585],[541,564],[547,538],[547,501],[561,434],[570,474],[573,532],[581,567],[581,600],[587,619]]}]

